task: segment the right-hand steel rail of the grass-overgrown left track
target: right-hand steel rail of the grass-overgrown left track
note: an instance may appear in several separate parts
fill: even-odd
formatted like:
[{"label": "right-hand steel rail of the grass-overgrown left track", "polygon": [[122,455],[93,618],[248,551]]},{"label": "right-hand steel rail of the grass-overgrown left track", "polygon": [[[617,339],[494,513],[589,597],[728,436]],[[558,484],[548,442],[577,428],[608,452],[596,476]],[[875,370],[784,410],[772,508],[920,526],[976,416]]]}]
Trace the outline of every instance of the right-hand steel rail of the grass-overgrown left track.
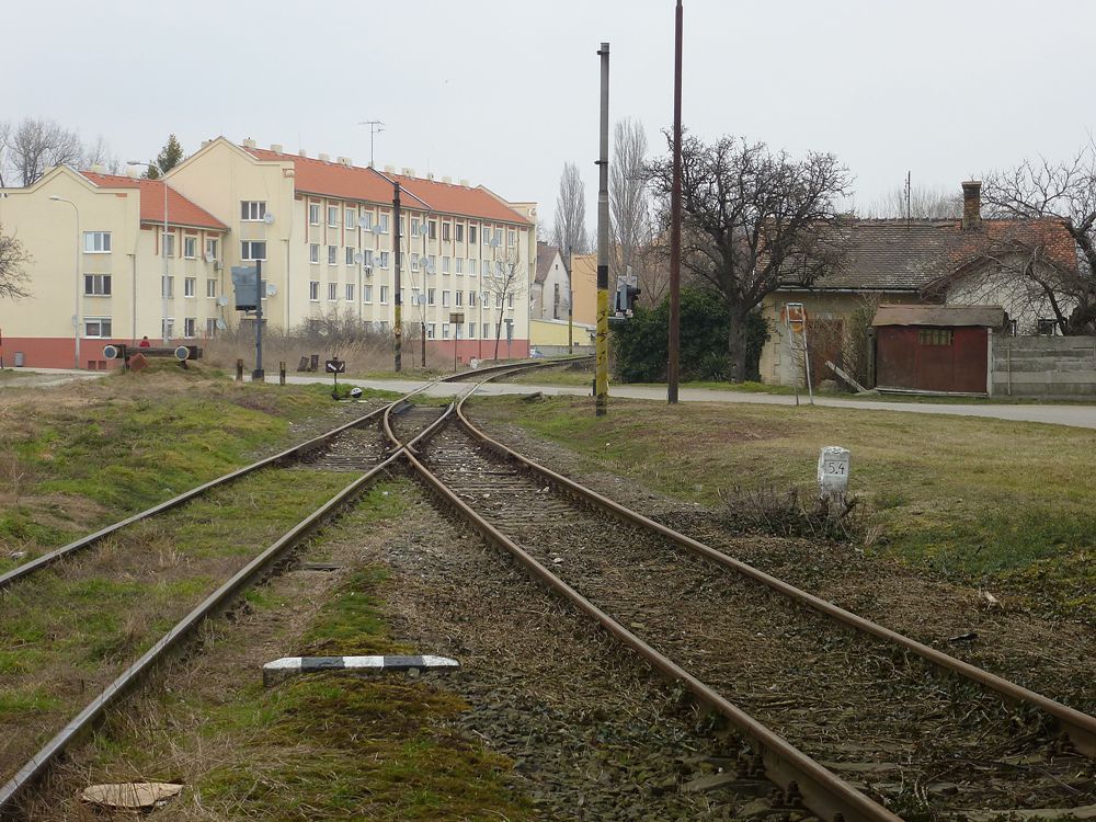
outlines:
[{"label": "right-hand steel rail of the grass-overgrown left track", "polygon": [[[420,390],[425,390],[425,387]],[[418,391],[412,392],[418,393]],[[403,399],[390,403],[396,406]],[[77,739],[89,729],[112,704],[125,695],[142,676],[172,649],[176,648],[194,628],[204,619],[213,615],[218,608],[228,603],[242,587],[254,578],[277,562],[288,550],[298,545],[305,537],[311,534],[323,522],[333,516],[339,509],[350,504],[357,494],[369,483],[372,483],[381,472],[386,471],[403,454],[404,447],[413,445],[422,437],[441,427],[452,414],[453,403],[418,436],[409,441],[407,446],[401,445],[390,456],[370,468],[367,472],[347,484],[334,496],[323,503],[315,512],[301,520],[297,525],[286,532],[275,543],[267,547],[262,553],[252,559],[248,564],[237,571],[231,579],[225,582],[214,593],[206,597],[199,605],[193,608],[186,616],[175,624],[159,641],[149,648],[129,667],[123,671],[110,685],[107,685],[99,696],[96,696],[83,710],[73,717],[53,739],[49,740],[27,763],[20,768],[7,784],[0,787],[0,818],[12,814],[15,803],[23,792],[34,784],[58,756]],[[383,409],[377,409],[380,412]]]}]

